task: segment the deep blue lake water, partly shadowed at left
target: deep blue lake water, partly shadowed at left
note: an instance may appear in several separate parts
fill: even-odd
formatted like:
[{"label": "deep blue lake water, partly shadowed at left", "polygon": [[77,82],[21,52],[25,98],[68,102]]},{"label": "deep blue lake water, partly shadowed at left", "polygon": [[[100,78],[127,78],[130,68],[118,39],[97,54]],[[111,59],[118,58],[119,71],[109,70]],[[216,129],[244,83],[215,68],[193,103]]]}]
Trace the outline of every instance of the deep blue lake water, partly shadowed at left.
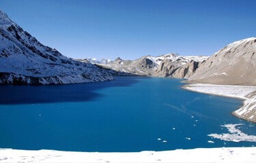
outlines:
[{"label": "deep blue lake water, partly shadowed at left", "polygon": [[207,136],[227,132],[223,124],[240,123],[240,130],[256,135],[255,124],[231,115],[242,101],[189,92],[180,82],[117,77],[91,84],[0,86],[0,148],[161,151],[256,145]]}]

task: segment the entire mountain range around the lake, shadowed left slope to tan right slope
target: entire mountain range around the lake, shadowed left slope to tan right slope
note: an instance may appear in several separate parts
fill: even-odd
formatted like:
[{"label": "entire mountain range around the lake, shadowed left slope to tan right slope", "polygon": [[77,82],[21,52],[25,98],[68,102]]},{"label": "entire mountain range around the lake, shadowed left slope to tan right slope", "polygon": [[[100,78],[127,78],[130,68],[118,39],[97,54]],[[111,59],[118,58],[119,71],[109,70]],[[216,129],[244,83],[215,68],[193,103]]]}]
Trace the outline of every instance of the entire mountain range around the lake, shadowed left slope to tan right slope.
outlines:
[{"label": "entire mountain range around the lake, shadowed left slope to tan right slope", "polygon": [[210,58],[170,53],[137,60],[74,60],[42,45],[0,10],[0,41],[0,84],[71,84],[112,80],[114,75],[148,75],[256,85],[255,37],[231,43]]}]

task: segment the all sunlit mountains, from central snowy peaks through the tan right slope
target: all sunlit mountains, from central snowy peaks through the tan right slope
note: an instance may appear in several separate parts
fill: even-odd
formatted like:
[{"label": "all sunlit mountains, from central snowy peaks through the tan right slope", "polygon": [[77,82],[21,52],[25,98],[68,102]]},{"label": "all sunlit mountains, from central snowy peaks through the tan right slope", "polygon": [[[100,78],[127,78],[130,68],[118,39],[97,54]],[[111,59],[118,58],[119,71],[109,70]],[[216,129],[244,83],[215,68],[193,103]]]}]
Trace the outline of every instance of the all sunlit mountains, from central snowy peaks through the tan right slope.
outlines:
[{"label": "all sunlit mountains, from central snowy peaks through the tan right slope", "polygon": [[136,75],[177,77],[190,83],[256,85],[256,37],[230,43],[210,57],[170,53],[137,60],[95,60],[101,67]]}]

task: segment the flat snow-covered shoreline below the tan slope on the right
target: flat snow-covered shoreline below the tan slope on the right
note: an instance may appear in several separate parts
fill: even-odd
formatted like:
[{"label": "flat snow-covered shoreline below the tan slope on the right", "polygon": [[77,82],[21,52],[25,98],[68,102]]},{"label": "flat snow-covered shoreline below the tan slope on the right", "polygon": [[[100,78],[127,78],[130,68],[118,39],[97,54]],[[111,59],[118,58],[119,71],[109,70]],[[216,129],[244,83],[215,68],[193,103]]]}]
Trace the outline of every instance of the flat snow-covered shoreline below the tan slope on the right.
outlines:
[{"label": "flat snow-covered shoreline below the tan slope on the right", "polygon": [[186,90],[241,98],[244,104],[240,109],[233,111],[233,115],[245,120],[256,122],[256,86],[227,86],[214,84],[189,84],[184,86]]}]

